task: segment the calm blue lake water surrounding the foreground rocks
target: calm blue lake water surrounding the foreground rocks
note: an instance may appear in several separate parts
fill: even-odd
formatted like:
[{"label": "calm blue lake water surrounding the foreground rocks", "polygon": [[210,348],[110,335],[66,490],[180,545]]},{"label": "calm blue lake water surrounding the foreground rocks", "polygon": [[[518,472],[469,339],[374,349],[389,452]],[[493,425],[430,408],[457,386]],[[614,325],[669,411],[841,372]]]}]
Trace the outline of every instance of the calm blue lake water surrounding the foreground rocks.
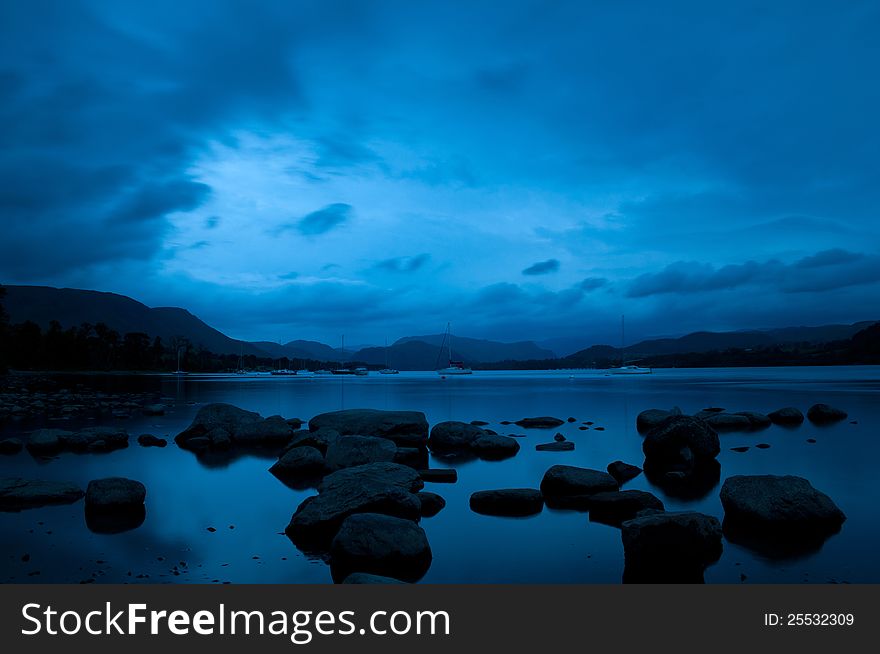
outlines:
[{"label": "calm blue lake water surrounding the foreground rocks", "polygon": [[[773,426],[749,434],[722,434],[721,480],[734,474],[804,476],[847,514],[842,531],[819,552],[796,560],[766,560],[725,542],[724,554],[706,571],[706,580],[739,583],[745,575],[747,583],[880,582],[880,367],[661,370],[632,377],[577,371],[479,372],[446,380],[434,373],[401,373],[345,379],[157,376],[92,381],[119,391],[161,389],[173,408],[161,417],[118,420],[132,435],[128,449],[65,454],[48,462],[38,462],[26,452],[0,457],[0,475],[71,480],[83,487],[97,477],[138,479],[147,487],[146,521],[134,531],[99,535],[86,528],[81,502],[0,513],[2,580],[330,582],[328,567],[302,555],[283,535],[297,505],[314,491],[284,486],[267,472],[273,460],[249,456],[209,468],[173,442],[164,449],[134,442],[141,433],[173,438],[200,405],[230,402],[264,416],[303,419],[340,408],[414,409],[424,411],[431,424],[485,420],[502,434],[526,433],[516,457],[455,463],[458,483],[426,485],[426,490],[445,497],[447,506],[422,521],[434,552],[423,581],[616,583],[623,571],[618,529],[590,522],[588,514],[546,508],[530,518],[481,516],[469,510],[468,497],[482,489],[537,488],[555,463],[600,470],[615,459],[641,465],[642,439],[635,417],[646,408],[678,405],[691,413],[720,406],[769,412],[791,405],[806,412],[813,403],[827,402],[845,409],[849,419],[830,427],[805,422],[797,429]],[[536,415],[572,416],[577,422],[558,430],[526,431],[498,424]],[[581,421],[587,420],[605,430],[579,431]],[[5,428],[7,434],[15,430],[12,425]],[[552,440],[556,431],[576,443],[575,451],[536,452],[534,446]],[[808,438],[817,442],[807,443]],[[771,447],[730,451],[762,442]],[[644,475],[625,488],[653,492],[667,510],[723,516],[720,483],[692,501],[667,496]],[[208,527],[217,531],[210,533]],[[27,562],[22,561],[25,554],[30,555]]]}]

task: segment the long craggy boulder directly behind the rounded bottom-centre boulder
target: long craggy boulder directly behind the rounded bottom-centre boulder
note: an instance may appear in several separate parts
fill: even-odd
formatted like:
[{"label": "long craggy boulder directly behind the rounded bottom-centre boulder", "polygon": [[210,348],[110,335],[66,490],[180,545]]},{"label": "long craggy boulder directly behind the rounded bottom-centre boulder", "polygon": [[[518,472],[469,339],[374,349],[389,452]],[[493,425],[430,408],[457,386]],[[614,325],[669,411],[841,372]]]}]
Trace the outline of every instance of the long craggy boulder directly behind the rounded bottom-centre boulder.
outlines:
[{"label": "long craggy boulder directly behind the rounded bottom-centre boulder", "polygon": [[356,513],[382,513],[418,520],[421,502],[414,494],[422,481],[411,468],[370,463],[334,472],[321,482],[318,495],[297,508],[286,533],[307,550],[326,547],[342,522]]}]

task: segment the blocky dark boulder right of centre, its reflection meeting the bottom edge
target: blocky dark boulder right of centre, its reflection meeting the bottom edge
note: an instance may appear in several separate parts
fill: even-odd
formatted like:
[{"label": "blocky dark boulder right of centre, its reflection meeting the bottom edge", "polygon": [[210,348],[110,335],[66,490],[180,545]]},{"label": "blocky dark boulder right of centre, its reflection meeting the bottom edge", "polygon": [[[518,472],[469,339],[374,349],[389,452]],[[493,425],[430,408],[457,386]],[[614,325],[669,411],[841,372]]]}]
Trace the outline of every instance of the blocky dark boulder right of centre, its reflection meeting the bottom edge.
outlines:
[{"label": "blocky dark boulder right of centre, its reflection meeting the bottom edge", "polygon": [[696,512],[658,513],[621,528],[625,583],[694,583],[721,557],[721,524]]}]

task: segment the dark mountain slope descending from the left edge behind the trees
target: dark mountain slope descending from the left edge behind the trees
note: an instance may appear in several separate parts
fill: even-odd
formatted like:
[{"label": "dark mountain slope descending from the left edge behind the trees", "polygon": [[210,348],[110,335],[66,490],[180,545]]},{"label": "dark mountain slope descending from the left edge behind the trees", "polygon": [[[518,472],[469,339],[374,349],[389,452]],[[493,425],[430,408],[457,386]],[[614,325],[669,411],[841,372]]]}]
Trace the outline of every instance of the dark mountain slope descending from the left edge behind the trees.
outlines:
[{"label": "dark mountain slope descending from the left edge behind the trees", "polygon": [[3,304],[12,323],[31,320],[45,329],[52,320],[57,320],[68,329],[82,323],[102,322],[120,334],[144,332],[151,338],[159,336],[166,345],[174,338],[185,337],[193,345],[217,354],[266,356],[260,348],[229,338],[186,309],[150,308],[124,295],[74,288],[6,285],[3,288],[6,289]]}]

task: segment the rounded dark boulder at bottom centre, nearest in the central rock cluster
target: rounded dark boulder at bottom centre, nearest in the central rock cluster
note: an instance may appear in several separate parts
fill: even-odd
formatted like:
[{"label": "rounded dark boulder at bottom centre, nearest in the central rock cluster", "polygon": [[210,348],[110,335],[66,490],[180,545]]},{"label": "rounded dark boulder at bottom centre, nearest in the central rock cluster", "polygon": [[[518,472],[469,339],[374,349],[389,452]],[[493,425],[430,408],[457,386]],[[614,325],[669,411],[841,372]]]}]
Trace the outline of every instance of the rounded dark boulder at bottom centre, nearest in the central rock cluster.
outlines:
[{"label": "rounded dark boulder at bottom centre, nearest in the central rock cluster", "polygon": [[342,523],[330,546],[335,580],[353,572],[418,581],[431,567],[425,531],[411,520],[377,513],[352,515]]}]

